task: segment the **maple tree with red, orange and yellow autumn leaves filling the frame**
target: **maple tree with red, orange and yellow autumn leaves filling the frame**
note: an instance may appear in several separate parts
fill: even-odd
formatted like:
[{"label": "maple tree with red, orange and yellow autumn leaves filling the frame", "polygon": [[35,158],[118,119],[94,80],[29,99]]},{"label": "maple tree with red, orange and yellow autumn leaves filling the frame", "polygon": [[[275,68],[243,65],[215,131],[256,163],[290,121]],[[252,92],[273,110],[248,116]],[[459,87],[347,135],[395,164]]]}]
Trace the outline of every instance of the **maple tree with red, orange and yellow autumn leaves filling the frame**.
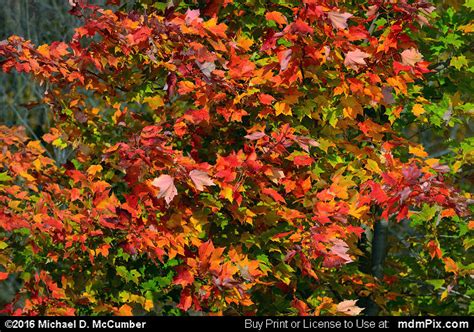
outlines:
[{"label": "maple tree with red, orange and yellow autumn leaves filling the frame", "polygon": [[469,195],[400,130],[432,4],[73,4],[70,42],[0,43],[54,120],[41,141],[0,127],[0,279],[22,281],[3,312],[403,313],[410,266],[359,264],[383,223],[429,224],[425,285],[467,287],[436,229],[473,228]]}]

